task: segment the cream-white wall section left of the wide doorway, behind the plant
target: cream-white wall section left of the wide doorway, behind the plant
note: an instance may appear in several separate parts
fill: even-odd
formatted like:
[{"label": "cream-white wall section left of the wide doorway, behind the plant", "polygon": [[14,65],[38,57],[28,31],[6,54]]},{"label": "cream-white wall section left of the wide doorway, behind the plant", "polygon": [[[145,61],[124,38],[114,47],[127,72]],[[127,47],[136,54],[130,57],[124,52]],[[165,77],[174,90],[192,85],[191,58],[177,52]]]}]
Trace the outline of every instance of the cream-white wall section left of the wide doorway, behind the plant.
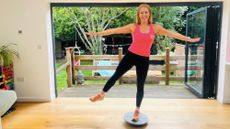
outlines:
[{"label": "cream-white wall section left of the wide doorway, behind the plant", "polygon": [[20,53],[14,63],[19,101],[50,101],[54,98],[54,77],[48,0],[0,3],[0,42],[17,43]]}]

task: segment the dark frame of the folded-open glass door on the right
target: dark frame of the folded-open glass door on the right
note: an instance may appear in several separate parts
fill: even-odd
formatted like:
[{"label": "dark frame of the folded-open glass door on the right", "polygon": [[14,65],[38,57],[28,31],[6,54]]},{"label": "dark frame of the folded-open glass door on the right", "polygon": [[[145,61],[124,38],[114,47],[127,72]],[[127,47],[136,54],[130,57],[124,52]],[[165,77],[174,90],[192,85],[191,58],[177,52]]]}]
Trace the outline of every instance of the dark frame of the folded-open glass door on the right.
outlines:
[{"label": "dark frame of the folded-open glass door on the right", "polygon": [[[188,16],[194,15],[196,13],[205,11],[206,13],[206,26],[205,26],[205,51],[204,51],[204,60],[203,60],[203,82],[201,92],[197,91],[196,88],[189,85],[187,82],[187,70],[188,70],[188,45],[186,43],[186,59],[185,59],[185,84],[195,95],[200,98],[216,98],[217,93],[217,84],[218,84],[218,69],[219,69],[219,53],[220,53],[220,28],[221,28],[221,15],[222,15],[222,6],[215,5],[200,8],[189,14]],[[219,13],[219,14],[218,14]],[[218,16],[219,17],[218,17]],[[216,18],[218,17],[218,18]],[[212,23],[216,23],[215,27]],[[207,27],[208,26],[208,27]],[[186,26],[186,34],[188,34],[188,24]],[[213,82],[214,81],[214,82]]]}]

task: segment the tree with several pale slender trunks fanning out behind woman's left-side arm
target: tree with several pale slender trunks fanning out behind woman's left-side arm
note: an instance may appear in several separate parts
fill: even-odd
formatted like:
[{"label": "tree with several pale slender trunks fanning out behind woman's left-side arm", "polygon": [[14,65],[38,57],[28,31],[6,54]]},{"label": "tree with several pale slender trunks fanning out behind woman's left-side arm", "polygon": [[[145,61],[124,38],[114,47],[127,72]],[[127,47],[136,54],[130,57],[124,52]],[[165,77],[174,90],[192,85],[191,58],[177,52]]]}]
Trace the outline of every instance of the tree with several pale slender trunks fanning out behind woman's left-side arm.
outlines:
[{"label": "tree with several pale slender trunks fanning out behind woman's left-side arm", "polygon": [[102,36],[87,36],[85,32],[103,31],[128,8],[80,7],[66,8],[80,39],[92,54],[103,54]]}]

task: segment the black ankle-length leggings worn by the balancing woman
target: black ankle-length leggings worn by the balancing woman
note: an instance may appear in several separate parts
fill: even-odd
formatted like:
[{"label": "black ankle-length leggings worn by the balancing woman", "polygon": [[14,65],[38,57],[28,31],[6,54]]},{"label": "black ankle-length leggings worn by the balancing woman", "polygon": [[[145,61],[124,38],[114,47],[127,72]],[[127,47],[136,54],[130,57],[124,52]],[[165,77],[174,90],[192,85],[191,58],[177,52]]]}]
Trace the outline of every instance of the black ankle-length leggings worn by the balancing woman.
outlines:
[{"label": "black ankle-length leggings worn by the balancing woman", "polygon": [[105,84],[103,91],[109,91],[115,82],[134,65],[136,66],[137,74],[136,106],[140,107],[144,97],[144,83],[149,69],[149,57],[139,56],[132,52],[128,52],[119,63],[115,73]]}]

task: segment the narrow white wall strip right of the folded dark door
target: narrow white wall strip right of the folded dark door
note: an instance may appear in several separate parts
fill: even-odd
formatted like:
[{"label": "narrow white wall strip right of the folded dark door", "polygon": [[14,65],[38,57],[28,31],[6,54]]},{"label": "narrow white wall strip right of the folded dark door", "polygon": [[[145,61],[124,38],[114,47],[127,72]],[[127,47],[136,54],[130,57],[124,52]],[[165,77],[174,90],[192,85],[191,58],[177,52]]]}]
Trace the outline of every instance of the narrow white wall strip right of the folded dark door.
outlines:
[{"label": "narrow white wall strip right of the folded dark door", "polygon": [[230,51],[228,47],[230,46],[230,2],[228,0],[225,1],[223,14],[217,99],[222,103],[230,103],[230,67],[227,59]]}]

